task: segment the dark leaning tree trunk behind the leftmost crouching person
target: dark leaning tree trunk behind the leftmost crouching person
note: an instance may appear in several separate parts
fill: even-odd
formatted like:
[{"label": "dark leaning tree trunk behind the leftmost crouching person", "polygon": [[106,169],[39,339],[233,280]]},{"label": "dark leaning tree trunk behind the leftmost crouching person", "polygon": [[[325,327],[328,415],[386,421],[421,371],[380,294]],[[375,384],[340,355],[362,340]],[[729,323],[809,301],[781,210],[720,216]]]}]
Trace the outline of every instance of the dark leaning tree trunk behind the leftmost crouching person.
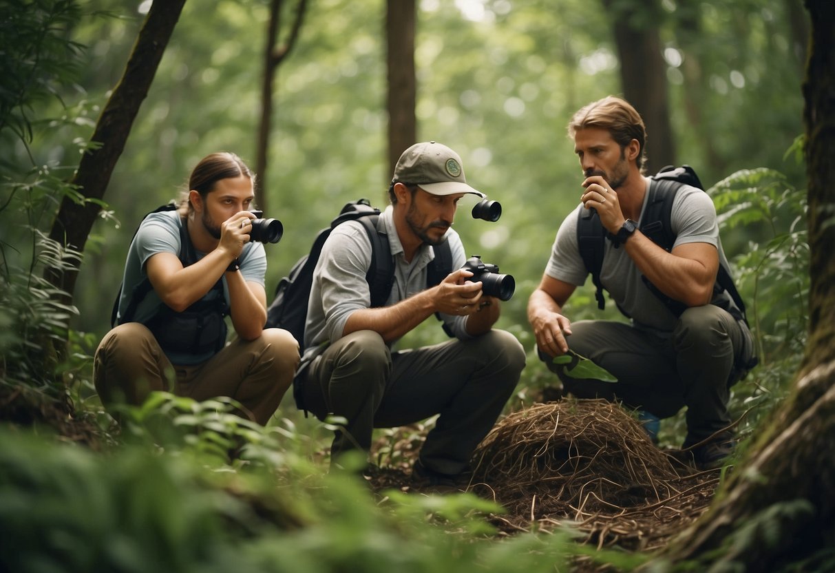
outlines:
[{"label": "dark leaning tree trunk behind the leftmost crouching person", "polygon": [[[78,170],[70,181],[78,189],[80,200],[64,196],[58,215],[53,221],[49,238],[61,245],[83,251],[90,230],[101,210],[104,190],[113,174],[116,161],[122,155],[130,129],[139,113],[139,106],[148,95],[159,61],[171,38],[185,0],[168,0],[151,4],[148,16],[134,44],[122,79],[104,105],[90,140],[89,149],[81,158]],[[44,277],[66,293],[71,302],[78,265],[70,271],[48,267]]]}]

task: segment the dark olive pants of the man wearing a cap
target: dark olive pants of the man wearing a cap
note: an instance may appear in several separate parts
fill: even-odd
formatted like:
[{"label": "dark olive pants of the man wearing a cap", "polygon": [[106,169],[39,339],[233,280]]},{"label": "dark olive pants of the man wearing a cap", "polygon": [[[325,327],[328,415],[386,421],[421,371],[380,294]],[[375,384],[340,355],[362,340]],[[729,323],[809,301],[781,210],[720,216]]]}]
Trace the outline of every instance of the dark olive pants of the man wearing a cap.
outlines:
[{"label": "dark olive pants of the man wearing a cap", "polygon": [[524,364],[522,345],[502,330],[401,352],[391,352],[377,332],[359,331],[331,344],[297,383],[317,418],[347,418],[331,459],[351,449],[368,451],[373,428],[439,413],[420,459],[433,471],[459,474],[493,428]]}]

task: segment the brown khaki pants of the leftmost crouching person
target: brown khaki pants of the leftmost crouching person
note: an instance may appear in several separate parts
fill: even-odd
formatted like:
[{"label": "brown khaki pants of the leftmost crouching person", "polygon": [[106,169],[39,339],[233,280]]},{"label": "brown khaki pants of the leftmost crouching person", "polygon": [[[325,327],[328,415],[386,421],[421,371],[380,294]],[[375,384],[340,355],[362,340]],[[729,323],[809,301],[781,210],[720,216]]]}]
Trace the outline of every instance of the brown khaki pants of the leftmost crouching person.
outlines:
[{"label": "brown khaki pants of the leftmost crouching person", "polygon": [[226,396],[241,403],[242,417],[266,424],[290,387],[298,362],[296,339],[285,330],[268,328],[253,341],[236,338],[205,363],[172,365],[148,328],[126,322],[99,343],[94,383],[108,407],[139,405],[154,390],[198,401]]}]

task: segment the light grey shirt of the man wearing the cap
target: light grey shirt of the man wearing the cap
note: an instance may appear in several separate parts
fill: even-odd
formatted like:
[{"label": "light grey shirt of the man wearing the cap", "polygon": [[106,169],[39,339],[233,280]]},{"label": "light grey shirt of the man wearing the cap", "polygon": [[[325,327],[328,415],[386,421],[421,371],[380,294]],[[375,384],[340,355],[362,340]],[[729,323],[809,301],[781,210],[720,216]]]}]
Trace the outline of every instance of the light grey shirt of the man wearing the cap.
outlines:
[{"label": "light grey shirt of the man wearing the cap", "polygon": [[[394,258],[394,284],[387,301],[387,306],[390,306],[426,290],[427,265],[435,254],[431,246],[423,245],[412,261],[407,262],[394,227],[391,205],[381,213],[380,221]],[[458,269],[467,258],[461,239],[457,232],[450,229],[446,240],[452,252],[453,269]],[[371,288],[366,281],[371,257],[371,241],[361,222],[347,221],[331,231],[313,271],[305,327],[306,348],[315,348],[322,342],[336,342],[342,338],[345,323],[352,312],[371,307]],[[441,314],[441,319],[452,328],[455,337],[470,337],[464,328],[466,317]]]}]

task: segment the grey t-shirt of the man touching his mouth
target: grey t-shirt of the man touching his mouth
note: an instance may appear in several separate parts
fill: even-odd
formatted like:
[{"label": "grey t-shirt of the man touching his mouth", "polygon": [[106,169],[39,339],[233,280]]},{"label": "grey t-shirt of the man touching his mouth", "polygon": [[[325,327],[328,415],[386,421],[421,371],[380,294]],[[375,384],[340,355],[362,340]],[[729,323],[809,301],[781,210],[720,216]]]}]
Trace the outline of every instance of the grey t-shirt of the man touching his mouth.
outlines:
[{"label": "grey t-shirt of the man touching his mouth", "polygon": [[[646,210],[650,195],[650,186],[655,182],[646,178],[647,188],[641,217]],[[568,282],[576,287],[584,284],[589,272],[579,254],[577,242],[578,211],[580,204],[565,217],[559,226],[545,274],[559,281]],[[640,219],[638,224],[642,222]],[[671,212],[671,228],[676,235],[675,246],[686,243],[708,243],[716,246],[721,262],[726,262],[725,253],[719,239],[719,226],[716,221],[716,208],[710,196],[696,187],[684,186],[676,192]],[[638,327],[649,327],[659,332],[672,332],[676,325],[676,316],[670,312],[641,280],[641,272],[635,266],[624,248],[615,248],[611,241],[605,241],[603,266],[600,270],[600,282],[610,293],[615,303],[630,317]]]}]

